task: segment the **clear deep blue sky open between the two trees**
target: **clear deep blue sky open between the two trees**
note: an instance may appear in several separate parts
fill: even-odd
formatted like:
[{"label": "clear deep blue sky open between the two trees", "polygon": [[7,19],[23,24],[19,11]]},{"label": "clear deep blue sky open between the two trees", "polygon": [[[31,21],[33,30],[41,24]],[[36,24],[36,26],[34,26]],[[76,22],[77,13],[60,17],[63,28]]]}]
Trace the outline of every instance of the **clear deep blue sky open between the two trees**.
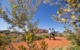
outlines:
[{"label": "clear deep blue sky open between the two trees", "polygon": [[[8,0],[2,0],[2,6],[7,6],[9,8]],[[38,27],[43,29],[54,28],[56,31],[64,31],[63,24],[55,22],[50,14],[57,15],[57,6],[50,6],[49,4],[41,3],[36,14],[34,15],[33,22],[37,19],[40,20]],[[8,28],[9,24],[0,19],[0,30],[5,30]]]}]

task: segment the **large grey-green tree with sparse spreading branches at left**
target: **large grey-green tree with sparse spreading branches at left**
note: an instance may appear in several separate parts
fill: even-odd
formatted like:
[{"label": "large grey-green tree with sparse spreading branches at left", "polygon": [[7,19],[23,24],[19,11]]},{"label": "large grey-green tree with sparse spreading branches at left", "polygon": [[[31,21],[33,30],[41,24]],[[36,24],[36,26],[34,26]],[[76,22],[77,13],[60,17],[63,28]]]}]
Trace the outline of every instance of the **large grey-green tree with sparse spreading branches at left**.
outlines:
[{"label": "large grey-green tree with sparse spreading branches at left", "polygon": [[[42,0],[8,0],[10,9],[4,6],[6,11],[0,8],[0,18],[10,24],[8,29],[16,29],[15,27],[26,32],[26,29],[38,27],[38,22],[32,23],[34,14],[36,13]],[[27,27],[27,28],[26,28]]]}]

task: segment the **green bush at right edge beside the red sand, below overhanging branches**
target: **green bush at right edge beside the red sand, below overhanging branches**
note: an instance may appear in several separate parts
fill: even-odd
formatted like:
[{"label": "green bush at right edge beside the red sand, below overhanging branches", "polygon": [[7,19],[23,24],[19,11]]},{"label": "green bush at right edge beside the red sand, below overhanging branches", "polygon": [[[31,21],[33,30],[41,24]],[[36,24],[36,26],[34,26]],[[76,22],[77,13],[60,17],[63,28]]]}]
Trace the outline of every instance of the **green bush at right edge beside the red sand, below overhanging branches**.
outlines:
[{"label": "green bush at right edge beside the red sand, below overhanging branches", "polygon": [[78,35],[75,34],[65,34],[64,36],[67,40],[71,41],[72,45],[78,45],[80,46],[80,38],[78,37]]}]

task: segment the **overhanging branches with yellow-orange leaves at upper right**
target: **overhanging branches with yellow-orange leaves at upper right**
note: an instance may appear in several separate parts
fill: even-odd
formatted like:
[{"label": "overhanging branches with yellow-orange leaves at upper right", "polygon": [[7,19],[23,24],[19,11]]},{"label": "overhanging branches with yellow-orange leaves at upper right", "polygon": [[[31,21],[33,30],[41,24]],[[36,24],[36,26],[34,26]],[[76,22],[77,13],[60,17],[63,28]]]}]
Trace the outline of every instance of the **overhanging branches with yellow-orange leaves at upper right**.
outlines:
[{"label": "overhanging branches with yellow-orange leaves at upper right", "polygon": [[59,9],[56,12],[58,16],[51,15],[55,21],[69,24],[74,29],[80,27],[80,0],[44,0],[43,3],[58,6]]}]

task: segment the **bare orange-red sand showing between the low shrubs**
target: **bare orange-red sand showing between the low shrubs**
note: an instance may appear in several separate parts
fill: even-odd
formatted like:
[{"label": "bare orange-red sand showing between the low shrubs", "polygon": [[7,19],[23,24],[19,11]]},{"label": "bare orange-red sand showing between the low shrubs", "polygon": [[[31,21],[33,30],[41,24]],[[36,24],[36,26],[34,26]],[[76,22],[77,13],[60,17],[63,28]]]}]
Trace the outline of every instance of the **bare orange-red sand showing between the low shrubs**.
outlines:
[{"label": "bare orange-red sand showing between the low shrubs", "polygon": [[[51,47],[64,47],[64,46],[70,45],[70,41],[66,40],[63,37],[55,37],[55,38],[56,38],[56,40],[53,40],[53,39],[49,40],[48,38],[45,39],[45,42],[48,44],[48,48],[51,48]],[[40,48],[40,41],[36,41],[36,43],[38,44],[38,47]],[[18,42],[18,43],[13,43],[13,46],[15,48],[17,48],[19,45],[23,45],[26,48],[28,48],[26,42],[21,41],[21,42]]]}]

